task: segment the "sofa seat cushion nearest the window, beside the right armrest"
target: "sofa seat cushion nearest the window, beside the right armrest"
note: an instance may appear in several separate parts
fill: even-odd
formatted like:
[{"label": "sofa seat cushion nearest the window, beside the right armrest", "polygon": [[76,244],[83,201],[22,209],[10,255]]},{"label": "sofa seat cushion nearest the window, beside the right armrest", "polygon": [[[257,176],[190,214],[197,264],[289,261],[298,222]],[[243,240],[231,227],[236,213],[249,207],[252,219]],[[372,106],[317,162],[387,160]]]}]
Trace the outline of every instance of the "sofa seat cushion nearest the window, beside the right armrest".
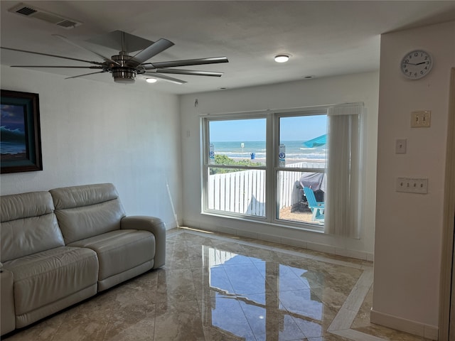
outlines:
[{"label": "sofa seat cushion nearest the window, beside the right armrest", "polygon": [[155,237],[148,231],[121,229],[68,244],[87,247],[98,255],[98,281],[151,261],[155,256]]}]

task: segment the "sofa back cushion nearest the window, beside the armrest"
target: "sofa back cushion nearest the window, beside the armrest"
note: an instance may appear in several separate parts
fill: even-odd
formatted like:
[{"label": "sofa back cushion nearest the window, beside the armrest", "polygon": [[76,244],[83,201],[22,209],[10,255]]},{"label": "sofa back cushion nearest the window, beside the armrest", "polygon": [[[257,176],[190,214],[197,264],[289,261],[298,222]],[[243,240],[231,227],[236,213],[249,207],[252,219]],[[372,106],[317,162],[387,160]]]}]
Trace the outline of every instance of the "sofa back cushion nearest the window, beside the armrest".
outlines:
[{"label": "sofa back cushion nearest the window, beside the armrest", "polygon": [[65,244],[120,229],[125,216],[112,183],[50,190]]}]

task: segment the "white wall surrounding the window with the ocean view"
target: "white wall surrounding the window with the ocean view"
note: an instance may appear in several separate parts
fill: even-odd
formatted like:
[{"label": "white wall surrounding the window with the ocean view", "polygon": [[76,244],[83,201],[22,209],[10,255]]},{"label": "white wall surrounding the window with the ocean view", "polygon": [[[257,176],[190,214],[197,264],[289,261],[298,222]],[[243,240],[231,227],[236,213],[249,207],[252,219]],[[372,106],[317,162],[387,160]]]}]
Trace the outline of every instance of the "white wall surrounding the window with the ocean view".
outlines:
[{"label": "white wall surrounding the window with the ocean view", "polygon": [[[333,253],[373,256],[375,222],[375,173],[378,123],[378,72],[330,77],[278,85],[224,90],[181,97],[181,129],[183,136],[183,223],[190,227],[243,234],[284,244],[298,244]],[[195,107],[195,100],[198,106]],[[249,112],[263,109],[287,109],[316,105],[364,102],[366,117],[365,207],[360,239],[333,237],[319,232],[287,229],[200,214],[200,114]],[[189,136],[188,136],[189,134]],[[304,241],[304,242],[299,242]]]}]

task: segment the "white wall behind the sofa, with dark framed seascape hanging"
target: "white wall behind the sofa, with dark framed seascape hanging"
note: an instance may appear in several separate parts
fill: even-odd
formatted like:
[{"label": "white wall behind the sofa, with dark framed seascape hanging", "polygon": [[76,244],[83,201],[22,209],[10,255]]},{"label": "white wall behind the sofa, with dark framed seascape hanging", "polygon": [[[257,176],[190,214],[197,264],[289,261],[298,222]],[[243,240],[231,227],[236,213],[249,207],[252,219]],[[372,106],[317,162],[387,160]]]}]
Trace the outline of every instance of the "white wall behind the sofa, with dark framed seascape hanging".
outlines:
[{"label": "white wall behind the sofa, with dark framed seascape hanging", "polygon": [[63,78],[1,67],[1,89],[39,94],[43,151],[43,171],[0,176],[1,195],[110,182],[128,215],[155,215],[175,227],[166,182],[180,217],[178,97],[145,82]]}]

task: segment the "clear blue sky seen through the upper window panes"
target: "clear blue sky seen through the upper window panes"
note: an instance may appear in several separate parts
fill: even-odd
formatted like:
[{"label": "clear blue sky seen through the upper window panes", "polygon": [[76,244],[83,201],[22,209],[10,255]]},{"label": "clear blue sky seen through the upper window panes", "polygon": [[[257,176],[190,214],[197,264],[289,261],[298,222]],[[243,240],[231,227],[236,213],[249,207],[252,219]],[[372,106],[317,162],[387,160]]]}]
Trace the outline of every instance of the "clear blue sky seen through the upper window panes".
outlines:
[{"label": "clear blue sky seen through the upper window panes", "polygon": [[[326,134],[326,115],[282,117],[280,141],[308,141]],[[265,141],[266,119],[210,121],[210,141]]]}]

